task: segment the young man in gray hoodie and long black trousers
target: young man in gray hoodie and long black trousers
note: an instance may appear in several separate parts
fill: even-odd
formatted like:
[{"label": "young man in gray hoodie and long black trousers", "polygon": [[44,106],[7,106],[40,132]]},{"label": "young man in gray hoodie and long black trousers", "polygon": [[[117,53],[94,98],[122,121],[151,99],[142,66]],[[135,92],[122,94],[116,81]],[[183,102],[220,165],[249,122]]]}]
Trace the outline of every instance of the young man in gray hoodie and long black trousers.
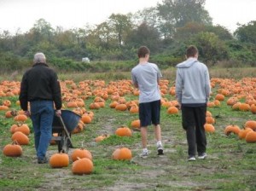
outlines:
[{"label": "young man in gray hoodie and long black trousers", "polygon": [[189,46],[186,61],[177,65],[176,98],[182,110],[183,129],[186,130],[189,145],[189,161],[207,157],[206,124],[207,101],[211,93],[208,68],[197,61],[198,49]]}]

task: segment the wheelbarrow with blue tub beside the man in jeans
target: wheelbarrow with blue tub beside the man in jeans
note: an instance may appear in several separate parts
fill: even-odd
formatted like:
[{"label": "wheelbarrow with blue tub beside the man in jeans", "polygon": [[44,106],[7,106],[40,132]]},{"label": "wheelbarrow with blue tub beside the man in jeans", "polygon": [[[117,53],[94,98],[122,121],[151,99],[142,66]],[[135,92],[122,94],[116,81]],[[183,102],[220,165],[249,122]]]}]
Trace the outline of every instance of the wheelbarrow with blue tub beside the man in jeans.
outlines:
[{"label": "wheelbarrow with blue tub beside the man in jeans", "polygon": [[52,123],[52,133],[57,133],[57,136],[52,136],[51,140],[58,145],[59,153],[68,153],[69,148],[73,148],[71,142],[71,132],[79,124],[81,116],[69,110],[61,110],[61,116],[54,116]]}]

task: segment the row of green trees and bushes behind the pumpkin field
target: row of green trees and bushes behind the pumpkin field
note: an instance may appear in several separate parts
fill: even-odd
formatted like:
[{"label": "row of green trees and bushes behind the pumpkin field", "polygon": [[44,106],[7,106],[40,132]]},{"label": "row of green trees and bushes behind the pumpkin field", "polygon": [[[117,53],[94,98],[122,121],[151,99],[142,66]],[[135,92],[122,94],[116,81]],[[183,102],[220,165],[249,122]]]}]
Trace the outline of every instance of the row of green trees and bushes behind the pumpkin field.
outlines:
[{"label": "row of green trees and bushes behind the pumpkin field", "polygon": [[[172,67],[183,60],[189,44],[198,47],[201,61],[209,66],[221,61],[230,67],[254,66],[256,20],[238,25],[231,33],[224,26],[212,25],[205,3],[162,0],[134,14],[111,14],[98,25],[67,30],[39,19],[28,32],[0,32],[0,67],[2,72],[24,69],[31,66],[32,56],[42,51],[60,70],[129,70],[141,45],[151,50],[151,61]],[[92,63],[82,63],[83,57]],[[108,66],[114,63],[119,64]]]}]

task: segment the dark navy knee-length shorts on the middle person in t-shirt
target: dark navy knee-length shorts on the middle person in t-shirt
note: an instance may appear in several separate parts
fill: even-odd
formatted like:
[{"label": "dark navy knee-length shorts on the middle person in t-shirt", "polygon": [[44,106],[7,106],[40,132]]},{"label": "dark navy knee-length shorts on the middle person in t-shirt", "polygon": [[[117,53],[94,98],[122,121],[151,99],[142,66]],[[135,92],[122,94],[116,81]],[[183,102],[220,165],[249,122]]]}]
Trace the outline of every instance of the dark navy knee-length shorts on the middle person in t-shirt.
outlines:
[{"label": "dark navy knee-length shorts on the middle person in t-shirt", "polygon": [[139,104],[141,127],[160,124],[160,100]]}]

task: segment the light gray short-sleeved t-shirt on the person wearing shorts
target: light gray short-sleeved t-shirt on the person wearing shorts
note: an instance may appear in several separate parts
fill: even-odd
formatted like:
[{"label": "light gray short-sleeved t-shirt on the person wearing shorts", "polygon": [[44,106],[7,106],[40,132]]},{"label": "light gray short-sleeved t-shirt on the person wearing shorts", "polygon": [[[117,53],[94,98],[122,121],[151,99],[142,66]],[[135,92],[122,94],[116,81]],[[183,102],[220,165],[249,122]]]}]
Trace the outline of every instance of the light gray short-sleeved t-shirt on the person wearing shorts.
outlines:
[{"label": "light gray short-sleeved t-shirt on the person wearing shorts", "polygon": [[138,64],[131,70],[133,84],[138,84],[140,90],[139,102],[151,102],[160,100],[158,80],[162,77],[156,64]]}]

